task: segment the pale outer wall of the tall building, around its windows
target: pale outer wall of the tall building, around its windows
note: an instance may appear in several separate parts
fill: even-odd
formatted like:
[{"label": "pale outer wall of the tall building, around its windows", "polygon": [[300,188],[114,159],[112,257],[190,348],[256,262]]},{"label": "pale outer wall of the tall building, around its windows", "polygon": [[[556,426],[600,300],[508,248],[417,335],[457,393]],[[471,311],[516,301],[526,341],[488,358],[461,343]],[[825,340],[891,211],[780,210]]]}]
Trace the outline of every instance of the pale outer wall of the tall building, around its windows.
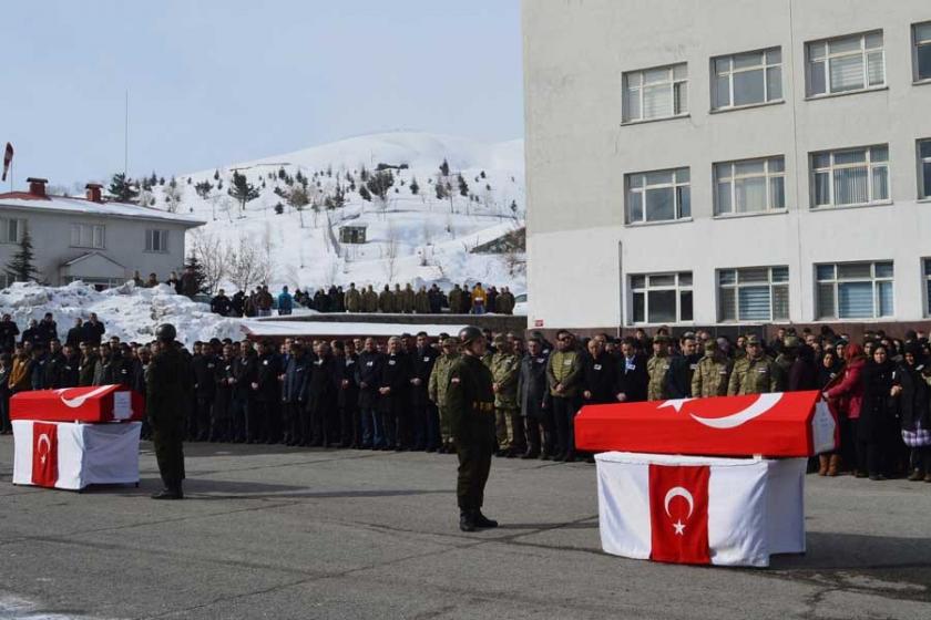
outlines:
[{"label": "pale outer wall of the tall building, around its windows", "polygon": [[[716,270],[788,266],[795,322],[816,319],[818,262],[894,261],[897,321],[925,317],[915,140],[931,85],[912,83],[911,24],[927,0],[523,4],[531,327],[630,324],[630,273],[692,271],[694,322],[717,321]],[[883,90],[805,99],[805,43],[883,31]],[[710,59],[781,46],[785,103],[710,112]],[[622,124],[622,74],[688,63],[686,117]],[[809,208],[809,153],[889,145],[891,204]],[[782,155],[787,213],[715,218],[713,163]],[[689,167],[692,219],[625,225],[624,175]],[[888,319],[887,319],[888,321]]]}]

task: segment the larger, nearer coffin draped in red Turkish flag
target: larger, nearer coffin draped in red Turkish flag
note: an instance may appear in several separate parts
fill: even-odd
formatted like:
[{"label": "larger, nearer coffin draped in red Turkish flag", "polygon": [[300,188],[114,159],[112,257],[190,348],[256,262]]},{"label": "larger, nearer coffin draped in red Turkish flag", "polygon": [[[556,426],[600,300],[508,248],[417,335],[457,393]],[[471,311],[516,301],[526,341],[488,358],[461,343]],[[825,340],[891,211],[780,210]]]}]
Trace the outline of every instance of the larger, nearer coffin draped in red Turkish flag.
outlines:
[{"label": "larger, nearer coffin draped in red Turkish flag", "polygon": [[575,416],[587,452],[804,457],[839,444],[820,392],[589,405]]}]

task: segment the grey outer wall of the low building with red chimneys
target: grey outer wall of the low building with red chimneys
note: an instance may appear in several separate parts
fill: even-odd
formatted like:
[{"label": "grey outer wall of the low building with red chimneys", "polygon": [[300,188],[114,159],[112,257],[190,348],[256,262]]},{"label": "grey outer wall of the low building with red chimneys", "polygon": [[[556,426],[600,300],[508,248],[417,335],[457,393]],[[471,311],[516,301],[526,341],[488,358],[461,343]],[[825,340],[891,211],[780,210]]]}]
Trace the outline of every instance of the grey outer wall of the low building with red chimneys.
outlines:
[{"label": "grey outer wall of the low building with red chimneys", "polygon": [[[184,225],[43,211],[41,207],[19,209],[0,206],[0,217],[27,220],[35,252],[35,267],[51,285],[64,283],[61,278],[62,264],[91,251],[98,251],[123,265],[126,268],[125,278],[131,278],[133,271],[139,270],[143,278],[155,272],[161,280],[165,280],[172,270],[180,270],[184,266]],[[105,247],[71,247],[72,224],[104,226]],[[167,252],[145,251],[145,231],[149,229],[170,231]],[[18,244],[0,244],[0,266],[7,265],[17,251]],[[80,264],[74,267],[74,271],[79,276],[95,276],[81,272]]]}]

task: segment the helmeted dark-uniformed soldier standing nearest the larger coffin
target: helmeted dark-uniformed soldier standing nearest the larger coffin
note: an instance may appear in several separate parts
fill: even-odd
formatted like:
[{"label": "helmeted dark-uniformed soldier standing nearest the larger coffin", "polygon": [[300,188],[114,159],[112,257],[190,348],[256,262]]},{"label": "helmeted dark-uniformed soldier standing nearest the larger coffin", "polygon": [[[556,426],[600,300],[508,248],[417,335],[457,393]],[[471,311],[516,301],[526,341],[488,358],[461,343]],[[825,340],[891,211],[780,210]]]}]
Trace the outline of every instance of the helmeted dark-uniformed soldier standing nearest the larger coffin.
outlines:
[{"label": "helmeted dark-uniformed soldier standing nearest the larger coffin", "polygon": [[459,503],[459,529],[498,527],[498,521],[482,515],[484,487],[494,451],[494,392],[491,371],[481,358],[485,340],[479,328],[459,332],[462,356],[449,373],[446,406],[459,454],[456,495]]}]

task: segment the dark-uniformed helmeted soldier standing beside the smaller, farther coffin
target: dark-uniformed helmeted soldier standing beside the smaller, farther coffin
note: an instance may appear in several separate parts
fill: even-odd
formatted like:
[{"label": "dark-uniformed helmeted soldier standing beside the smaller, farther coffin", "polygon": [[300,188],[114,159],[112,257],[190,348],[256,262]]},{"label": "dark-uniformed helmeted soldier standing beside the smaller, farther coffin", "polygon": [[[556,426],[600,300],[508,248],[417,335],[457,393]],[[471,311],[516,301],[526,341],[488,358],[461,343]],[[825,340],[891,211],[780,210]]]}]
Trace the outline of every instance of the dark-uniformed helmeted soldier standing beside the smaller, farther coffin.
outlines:
[{"label": "dark-uniformed helmeted soldier standing beside the smaller, farther coffin", "polygon": [[165,485],[153,499],[183,499],[185,399],[188,392],[190,369],[175,347],[177,332],[171,323],[158,327],[155,338],[158,352],[146,369],[146,413],[152,424],[152,441],[158,473]]}]

